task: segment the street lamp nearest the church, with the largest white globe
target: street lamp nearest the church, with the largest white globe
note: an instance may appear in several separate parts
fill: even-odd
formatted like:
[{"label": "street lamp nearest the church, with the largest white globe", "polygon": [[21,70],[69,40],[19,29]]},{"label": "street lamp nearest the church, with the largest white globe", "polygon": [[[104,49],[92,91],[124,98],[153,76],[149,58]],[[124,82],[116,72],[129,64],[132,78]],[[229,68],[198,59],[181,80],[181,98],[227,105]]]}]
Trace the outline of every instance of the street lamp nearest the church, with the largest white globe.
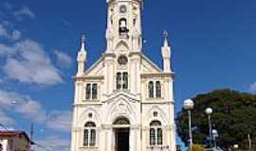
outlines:
[{"label": "street lamp nearest the church, with the largest white globe", "polygon": [[190,130],[190,150],[192,151],[192,109],[193,109],[192,99],[187,99],[183,102],[183,108],[188,111],[189,114],[189,130]]}]

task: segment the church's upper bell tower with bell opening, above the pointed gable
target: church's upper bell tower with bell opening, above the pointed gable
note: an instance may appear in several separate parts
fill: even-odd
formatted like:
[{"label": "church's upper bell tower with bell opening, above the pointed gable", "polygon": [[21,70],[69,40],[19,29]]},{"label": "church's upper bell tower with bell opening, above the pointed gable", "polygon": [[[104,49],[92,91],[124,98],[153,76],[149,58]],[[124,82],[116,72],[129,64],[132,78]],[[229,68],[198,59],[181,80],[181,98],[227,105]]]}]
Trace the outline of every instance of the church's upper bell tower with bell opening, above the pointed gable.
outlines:
[{"label": "church's upper bell tower with bell opening, above the pointed gable", "polygon": [[107,0],[106,53],[115,52],[119,42],[130,52],[140,52],[142,0]]}]

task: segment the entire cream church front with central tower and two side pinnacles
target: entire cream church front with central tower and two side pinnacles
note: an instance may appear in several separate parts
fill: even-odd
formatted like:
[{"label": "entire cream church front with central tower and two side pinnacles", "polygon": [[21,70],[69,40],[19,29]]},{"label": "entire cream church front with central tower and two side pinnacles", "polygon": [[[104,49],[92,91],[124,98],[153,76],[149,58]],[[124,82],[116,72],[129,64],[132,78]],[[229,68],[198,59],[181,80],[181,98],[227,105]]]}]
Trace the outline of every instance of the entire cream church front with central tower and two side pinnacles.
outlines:
[{"label": "entire cream church front with central tower and two side pinnacles", "polygon": [[175,151],[171,47],[165,32],[163,69],[142,53],[142,3],[107,0],[107,47],[90,68],[82,37],[70,151]]}]

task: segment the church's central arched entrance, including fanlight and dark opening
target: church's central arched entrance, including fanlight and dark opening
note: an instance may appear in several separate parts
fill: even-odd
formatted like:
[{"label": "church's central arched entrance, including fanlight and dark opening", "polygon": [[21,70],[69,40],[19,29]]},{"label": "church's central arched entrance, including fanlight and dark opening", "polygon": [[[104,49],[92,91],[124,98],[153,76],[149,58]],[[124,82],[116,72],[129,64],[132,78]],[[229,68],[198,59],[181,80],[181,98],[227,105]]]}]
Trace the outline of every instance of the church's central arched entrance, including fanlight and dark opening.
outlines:
[{"label": "church's central arched entrance, including fanlight and dark opening", "polygon": [[130,122],[125,117],[119,117],[114,123],[115,151],[129,151]]}]

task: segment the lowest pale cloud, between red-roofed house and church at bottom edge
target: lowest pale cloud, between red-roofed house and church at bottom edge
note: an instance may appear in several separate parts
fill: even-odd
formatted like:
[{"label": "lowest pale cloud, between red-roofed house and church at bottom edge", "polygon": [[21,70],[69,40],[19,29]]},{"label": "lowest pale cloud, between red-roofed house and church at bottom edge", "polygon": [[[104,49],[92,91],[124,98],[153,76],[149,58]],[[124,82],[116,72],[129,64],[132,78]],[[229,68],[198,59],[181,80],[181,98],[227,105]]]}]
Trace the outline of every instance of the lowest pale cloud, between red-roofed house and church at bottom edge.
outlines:
[{"label": "lowest pale cloud, between red-roofed house and church at bottom edge", "polygon": [[[38,140],[35,141],[38,143],[41,147],[39,146],[34,146],[32,149],[36,151],[45,151],[45,150],[50,150],[50,151],[68,151],[69,150],[69,140],[64,140],[58,136],[49,136],[46,137],[45,140]],[[44,148],[42,148],[44,147]]]}]

